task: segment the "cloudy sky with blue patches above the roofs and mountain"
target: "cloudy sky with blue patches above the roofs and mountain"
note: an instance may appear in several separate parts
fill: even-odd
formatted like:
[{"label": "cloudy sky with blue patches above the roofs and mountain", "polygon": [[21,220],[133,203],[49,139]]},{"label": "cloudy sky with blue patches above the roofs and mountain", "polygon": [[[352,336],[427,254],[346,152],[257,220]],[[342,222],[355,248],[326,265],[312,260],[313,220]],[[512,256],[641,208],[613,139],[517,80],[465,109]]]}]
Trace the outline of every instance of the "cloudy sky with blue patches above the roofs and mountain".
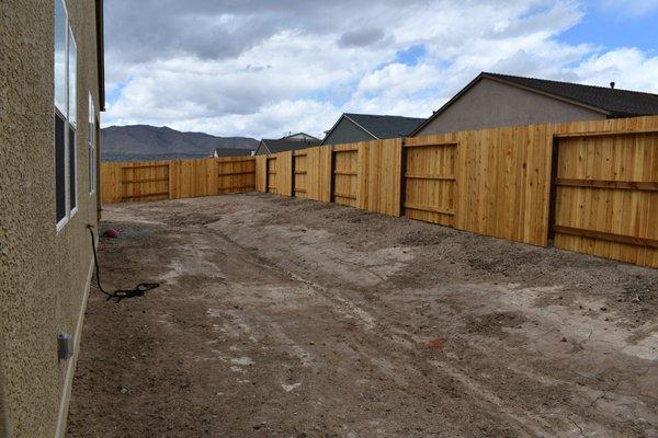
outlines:
[{"label": "cloudy sky with blue patches above the roofs and mountain", "polygon": [[481,71],[658,93],[658,0],[105,0],[103,126],[321,138]]}]

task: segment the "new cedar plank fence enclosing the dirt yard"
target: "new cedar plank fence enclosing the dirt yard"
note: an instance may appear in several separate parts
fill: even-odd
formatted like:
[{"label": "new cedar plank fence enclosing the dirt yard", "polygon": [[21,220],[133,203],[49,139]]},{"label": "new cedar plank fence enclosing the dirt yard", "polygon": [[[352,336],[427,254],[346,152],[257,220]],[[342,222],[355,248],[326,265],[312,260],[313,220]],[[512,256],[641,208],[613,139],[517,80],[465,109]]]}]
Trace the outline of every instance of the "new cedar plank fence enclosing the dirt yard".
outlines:
[{"label": "new cedar plank fence enclosing the dirt yard", "polygon": [[[250,160],[253,168],[245,171],[254,174],[235,191],[253,185],[258,192],[658,267],[658,117],[469,130]],[[154,198],[177,197],[175,181],[182,178],[175,171],[148,164],[149,173],[139,177],[125,164],[112,172],[126,181],[152,180],[139,184],[148,184]],[[203,170],[196,172],[197,188],[186,195],[223,193],[212,186],[212,166],[205,172],[205,180]],[[102,183],[104,194],[105,178]],[[118,192],[107,191],[117,199]],[[144,199],[146,192],[121,193],[123,199]]]}]

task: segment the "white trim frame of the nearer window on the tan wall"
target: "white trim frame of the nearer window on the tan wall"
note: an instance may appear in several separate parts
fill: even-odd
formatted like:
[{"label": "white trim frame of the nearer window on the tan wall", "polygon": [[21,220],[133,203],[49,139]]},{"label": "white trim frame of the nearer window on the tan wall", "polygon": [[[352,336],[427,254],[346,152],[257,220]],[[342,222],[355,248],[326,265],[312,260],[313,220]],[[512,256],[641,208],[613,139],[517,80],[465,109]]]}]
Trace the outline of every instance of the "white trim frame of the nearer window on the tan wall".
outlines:
[{"label": "white trim frame of the nearer window on the tan wall", "polygon": [[[61,5],[64,7],[64,15],[65,15],[65,22],[66,22],[66,37],[65,37],[65,74],[64,74],[64,83],[65,83],[65,89],[66,89],[66,93],[65,93],[65,111],[60,111],[59,108],[59,113],[63,114],[64,116],[64,191],[65,191],[65,196],[64,196],[64,203],[65,203],[65,216],[64,218],[61,218],[59,220],[59,222],[56,223],[55,229],[57,231],[57,233],[61,232],[61,230],[64,230],[66,228],[66,224],[73,218],[73,216],[76,216],[76,214],[78,212],[78,210],[80,209],[80,196],[78,195],[79,192],[79,186],[78,186],[78,176],[79,176],[79,164],[78,164],[78,122],[77,120],[71,120],[70,119],[70,87],[69,87],[69,38],[72,39],[72,44],[76,47],[76,70],[78,70],[78,58],[77,58],[77,53],[78,53],[78,44],[76,43],[76,37],[73,35],[73,30],[70,25],[69,22],[69,13],[68,13],[68,8],[66,5],[66,1],[65,0],[56,0],[56,1],[61,1]],[[73,84],[73,87],[76,87],[76,99],[78,99],[78,72],[76,71],[76,83]],[[76,102],[76,106],[77,106],[77,102]],[[53,116],[57,115],[58,112],[58,106],[57,106],[57,102],[55,101],[55,93],[53,93],[53,107],[54,107],[54,114]],[[78,117],[78,108],[76,107],[76,118]],[[73,127],[73,129],[76,130],[76,140],[75,140],[75,145],[73,145],[73,171],[76,173],[76,180],[75,180],[75,184],[76,184],[76,191],[75,191],[75,196],[76,196],[76,207],[71,209],[71,187],[70,187],[70,173],[71,173],[71,169],[70,169],[70,126]],[[55,170],[55,172],[57,172],[57,169]]]}]

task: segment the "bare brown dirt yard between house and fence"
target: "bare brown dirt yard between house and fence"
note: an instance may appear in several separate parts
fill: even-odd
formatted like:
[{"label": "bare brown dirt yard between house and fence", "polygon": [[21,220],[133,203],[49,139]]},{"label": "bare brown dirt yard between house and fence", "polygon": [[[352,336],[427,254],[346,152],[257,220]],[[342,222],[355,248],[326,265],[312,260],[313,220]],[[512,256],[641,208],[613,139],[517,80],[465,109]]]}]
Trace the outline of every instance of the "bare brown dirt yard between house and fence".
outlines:
[{"label": "bare brown dirt yard between house and fence", "polygon": [[658,270],[264,194],[107,207],[69,437],[658,437]]}]

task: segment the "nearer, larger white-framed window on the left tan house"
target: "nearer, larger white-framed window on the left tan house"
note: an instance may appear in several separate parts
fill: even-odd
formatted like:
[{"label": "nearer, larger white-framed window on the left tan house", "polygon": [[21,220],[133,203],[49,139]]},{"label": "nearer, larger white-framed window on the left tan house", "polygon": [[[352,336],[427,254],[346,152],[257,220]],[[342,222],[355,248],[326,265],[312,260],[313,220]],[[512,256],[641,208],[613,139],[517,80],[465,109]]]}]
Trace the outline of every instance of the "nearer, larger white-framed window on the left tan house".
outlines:
[{"label": "nearer, larger white-framed window on the left tan house", "polygon": [[55,212],[57,230],[78,211],[78,48],[64,0],[55,0]]}]

